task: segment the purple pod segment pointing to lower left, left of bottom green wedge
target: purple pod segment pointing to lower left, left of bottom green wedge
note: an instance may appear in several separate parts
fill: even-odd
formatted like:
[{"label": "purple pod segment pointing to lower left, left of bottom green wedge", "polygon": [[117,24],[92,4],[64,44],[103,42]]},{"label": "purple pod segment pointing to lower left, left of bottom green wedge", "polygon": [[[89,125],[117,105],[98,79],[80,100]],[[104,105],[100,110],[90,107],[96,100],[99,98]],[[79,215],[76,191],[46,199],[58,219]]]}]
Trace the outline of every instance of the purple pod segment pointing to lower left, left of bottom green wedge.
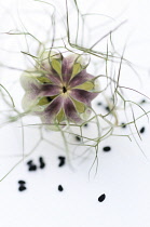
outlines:
[{"label": "purple pod segment pointing to lower left, left of bottom green wedge", "polygon": [[55,97],[51,104],[45,108],[41,117],[43,123],[55,123],[55,117],[59,112],[64,98],[62,95]]}]

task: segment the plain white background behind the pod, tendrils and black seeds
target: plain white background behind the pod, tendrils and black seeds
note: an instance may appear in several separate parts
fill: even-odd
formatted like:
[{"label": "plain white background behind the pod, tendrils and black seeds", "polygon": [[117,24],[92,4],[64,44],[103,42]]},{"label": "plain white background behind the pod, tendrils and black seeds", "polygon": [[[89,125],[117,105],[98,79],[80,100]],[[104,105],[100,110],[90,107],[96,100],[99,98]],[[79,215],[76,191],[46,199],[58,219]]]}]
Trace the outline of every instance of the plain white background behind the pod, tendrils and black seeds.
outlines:
[{"label": "plain white background behind the pod, tendrils and black seeds", "polygon": [[[71,3],[71,1],[68,2]],[[57,0],[51,3],[56,5],[59,15],[66,14],[65,1]],[[127,19],[125,25],[118,29],[113,41],[121,54],[126,44],[125,57],[134,64],[140,75],[140,80],[132,70],[125,68],[122,71],[121,82],[150,96],[150,1],[81,0],[79,3],[82,13],[100,13],[114,19],[112,23],[105,16],[91,16],[90,28],[97,26],[95,31],[92,31],[91,43],[94,43],[101,34]],[[44,40],[43,28],[49,28],[50,21],[42,5],[31,0],[0,1],[0,62],[2,64],[23,69],[28,66],[27,58],[21,54],[21,50],[26,50],[24,37],[9,36],[3,32],[26,27],[39,39]],[[47,9],[47,12],[51,10]],[[71,34],[73,34],[73,23],[76,25],[72,15],[73,13],[70,15]],[[108,23],[106,30],[103,27],[100,31],[100,23]],[[64,32],[64,29],[60,32]],[[85,40],[88,42],[87,37]],[[31,46],[32,42],[29,44]],[[99,48],[103,50],[100,44]],[[9,89],[19,107],[24,94],[18,82],[21,71],[3,67],[0,70],[1,83]],[[131,92],[128,95],[136,101],[142,99],[137,93]],[[95,108],[99,108],[96,107],[97,101],[99,97],[94,103]],[[0,102],[1,111],[3,111],[5,106],[2,101]],[[149,104],[142,107],[149,110]],[[5,116],[4,111],[1,112],[1,122],[5,121],[3,116]],[[123,116],[120,118],[124,121]],[[30,123],[32,120],[33,117],[28,119]],[[96,177],[92,174],[91,178],[88,178],[88,171],[95,153],[91,153],[84,160],[78,158],[77,161],[72,161],[73,170],[69,165],[59,169],[57,156],[66,155],[65,151],[47,143],[41,143],[28,159],[0,183],[0,226],[149,227],[150,130],[146,117],[138,121],[138,129],[142,125],[146,126],[146,133],[141,135],[141,142],[137,139],[147,158],[134,139],[129,142],[126,137],[110,137],[99,146],[98,171]],[[88,132],[93,128],[90,125],[85,130]],[[118,133],[127,134],[128,131],[125,129]],[[50,141],[63,147],[62,138],[57,133],[45,134]],[[26,153],[31,150],[38,139],[37,129],[25,129]],[[73,137],[70,136],[69,139],[76,143]],[[103,152],[103,146],[108,145],[112,148],[111,152]],[[82,153],[82,149],[78,147],[78,153],[80,152]],[[44,157],[46,168],[29,173],[26,161],[33,159],[38,164],[39,156]],[[19,159],[22,159],[22,129],[21,122],[14,122],[0,129],[0,176],[3,177]],[[18,191],[18,179],[26,181],[26,191]],[[63,192],[57,190],[59,184],[64,187]],[[97,199],[101,193],[106,193],[106,200],[99,203]]]}]

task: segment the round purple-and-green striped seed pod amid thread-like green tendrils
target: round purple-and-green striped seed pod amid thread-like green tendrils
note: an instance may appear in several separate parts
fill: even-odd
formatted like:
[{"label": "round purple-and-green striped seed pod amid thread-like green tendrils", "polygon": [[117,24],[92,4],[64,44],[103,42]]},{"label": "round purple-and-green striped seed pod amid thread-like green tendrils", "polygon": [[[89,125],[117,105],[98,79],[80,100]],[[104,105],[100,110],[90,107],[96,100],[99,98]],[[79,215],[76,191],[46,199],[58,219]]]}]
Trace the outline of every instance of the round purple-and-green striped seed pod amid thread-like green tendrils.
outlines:
[{"label": "round purple-and-green striped seed pod amid thread-like green tendrils", "polygon": [[91,102],[99,92],[97,80],[86,72],[82,55],[64,57],[60,53],[43,52],[35,69],[21,77],[25,90],[23,108],[40,116],[46,125],[81,124],[90,118]]}]

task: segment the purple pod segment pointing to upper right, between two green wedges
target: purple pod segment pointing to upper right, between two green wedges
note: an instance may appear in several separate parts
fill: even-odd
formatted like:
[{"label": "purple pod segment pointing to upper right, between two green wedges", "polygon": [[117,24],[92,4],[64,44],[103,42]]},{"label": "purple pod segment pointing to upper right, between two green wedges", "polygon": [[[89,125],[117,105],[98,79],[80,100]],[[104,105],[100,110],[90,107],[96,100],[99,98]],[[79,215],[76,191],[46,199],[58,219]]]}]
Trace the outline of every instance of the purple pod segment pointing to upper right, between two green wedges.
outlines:
[{"label": "purple pod segment pointing to upper right, between two green wedges", "polygon": [[87,74],[86,70],[84,69],[70,80],[69,86],[74,88],[77,85],[80,85],[80,84],[88,81],[88,80],[92,80],[93,78],[94,78],[94,76]]}]

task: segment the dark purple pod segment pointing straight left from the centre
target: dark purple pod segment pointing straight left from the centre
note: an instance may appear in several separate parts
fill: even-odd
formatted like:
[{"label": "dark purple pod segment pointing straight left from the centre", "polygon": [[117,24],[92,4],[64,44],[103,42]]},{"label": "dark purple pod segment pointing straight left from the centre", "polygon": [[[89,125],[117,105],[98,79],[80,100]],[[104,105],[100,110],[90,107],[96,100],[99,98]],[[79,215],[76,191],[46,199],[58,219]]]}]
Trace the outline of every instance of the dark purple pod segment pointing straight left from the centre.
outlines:
[{"label": "dark purple pod segment pointing straight left from the centre", "polygon": [[60,93],[60,86],[53,84],[44,84],[41,88],[40,96],[54,96]]}]

